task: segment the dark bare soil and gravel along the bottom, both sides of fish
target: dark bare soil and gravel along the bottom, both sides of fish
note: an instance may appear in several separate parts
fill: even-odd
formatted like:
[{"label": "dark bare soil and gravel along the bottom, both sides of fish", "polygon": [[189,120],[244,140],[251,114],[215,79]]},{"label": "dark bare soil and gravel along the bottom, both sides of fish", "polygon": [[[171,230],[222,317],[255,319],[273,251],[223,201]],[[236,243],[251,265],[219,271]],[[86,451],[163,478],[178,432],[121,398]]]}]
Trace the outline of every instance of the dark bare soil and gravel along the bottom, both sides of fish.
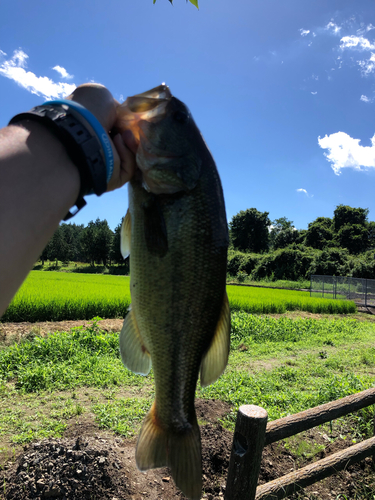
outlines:
[{"label": "dark bare soil and gravel along the bottom, both sides of fish", "polygon": [[[229,411],[217,400],[197,400],[201,426],[203,491],[207,500],[223,500],[233,433],[218,420]],[[329,437],[318,429],[307,431],[301,440],[324,449],[313,458],[296,455],[284,442],[264,449],[259,484],[271,481],[311,461],[323,458],[351,443],[333,432]],[[138,471],[136,439],[124,440],[100,431],[82,415],[72,421],[62,439],[45,439],[25,446],[14,461],[0,471],[2,500],[58,498],[61,500],[172,500],[185,498],[175,487],[167,468]],[[369,499],[375,488],[370,459],[348,467],[300,492],[290,499]],[[341,496],[340,495],[345,495]]]}]

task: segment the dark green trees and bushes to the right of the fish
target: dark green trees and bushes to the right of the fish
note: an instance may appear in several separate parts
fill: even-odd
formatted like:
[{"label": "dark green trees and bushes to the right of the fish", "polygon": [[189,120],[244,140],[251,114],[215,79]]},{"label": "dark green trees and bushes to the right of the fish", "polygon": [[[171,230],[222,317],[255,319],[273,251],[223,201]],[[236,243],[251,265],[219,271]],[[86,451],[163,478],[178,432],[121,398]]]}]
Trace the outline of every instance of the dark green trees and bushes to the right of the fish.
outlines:
[{"label": "dark green trees and bushes to the right of the fish", "polygon": [[228,272],[259,279],[309,279],[311,274],[375,279],[375,222],[369,210],[338,205],[307,229],[250,208],[229,223]]}]

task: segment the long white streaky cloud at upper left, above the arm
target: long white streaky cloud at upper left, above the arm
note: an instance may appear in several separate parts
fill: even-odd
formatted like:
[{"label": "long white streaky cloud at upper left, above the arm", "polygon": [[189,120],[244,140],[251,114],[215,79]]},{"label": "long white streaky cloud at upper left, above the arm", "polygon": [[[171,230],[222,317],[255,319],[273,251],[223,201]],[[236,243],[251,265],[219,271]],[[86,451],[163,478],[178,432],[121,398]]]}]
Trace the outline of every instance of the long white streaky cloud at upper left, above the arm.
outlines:
[{"label": "long white streaky cloud at upper left, above the arm", "polygon": [[[1,51],[1,59],[6,54]],[[11,59],[1,61],[0,75],[15,81],[32,94],[43,96],[46,100],[65,97],[76,88],[74,84],[54,82],[47,76],[36,76],[31,71],[26,71],[28,55],[21,49],[15,50]]]}]

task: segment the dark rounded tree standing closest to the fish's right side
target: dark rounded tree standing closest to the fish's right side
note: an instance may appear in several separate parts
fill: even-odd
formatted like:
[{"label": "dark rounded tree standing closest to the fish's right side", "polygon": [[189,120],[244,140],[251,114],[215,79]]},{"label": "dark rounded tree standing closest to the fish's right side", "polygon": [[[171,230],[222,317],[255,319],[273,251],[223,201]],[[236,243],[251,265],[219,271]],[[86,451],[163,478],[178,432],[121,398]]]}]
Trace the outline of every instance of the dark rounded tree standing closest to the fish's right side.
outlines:
[{"label": "dark rounded tree standing closest to the fish's right side", "polygon": [[270,225],[268,212],[259,212],[256,208],[241,210],[229,223],[234,248],[254,253],[268,250]]}]

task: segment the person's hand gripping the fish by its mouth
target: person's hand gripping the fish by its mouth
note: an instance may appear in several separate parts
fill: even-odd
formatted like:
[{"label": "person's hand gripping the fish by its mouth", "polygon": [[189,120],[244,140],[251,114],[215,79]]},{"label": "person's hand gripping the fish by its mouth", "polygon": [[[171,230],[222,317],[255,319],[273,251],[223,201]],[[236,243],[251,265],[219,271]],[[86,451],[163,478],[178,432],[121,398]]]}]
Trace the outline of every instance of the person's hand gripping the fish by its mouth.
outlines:
[{"label": "person's hand gripping the fish by its mouth", "polygon": [[[85,83],[77,87],[66,99],[78,102],[88,109],[102,124],[106,132],[110,132],[115,124],[116,108],[119,103],[110,91],[98,83]],[[125,146],[121,135],[110,139],[113,157],[113,174],[108,182],[107,191],[113,191],[130,181],[135,172],[134,154]]]}]

